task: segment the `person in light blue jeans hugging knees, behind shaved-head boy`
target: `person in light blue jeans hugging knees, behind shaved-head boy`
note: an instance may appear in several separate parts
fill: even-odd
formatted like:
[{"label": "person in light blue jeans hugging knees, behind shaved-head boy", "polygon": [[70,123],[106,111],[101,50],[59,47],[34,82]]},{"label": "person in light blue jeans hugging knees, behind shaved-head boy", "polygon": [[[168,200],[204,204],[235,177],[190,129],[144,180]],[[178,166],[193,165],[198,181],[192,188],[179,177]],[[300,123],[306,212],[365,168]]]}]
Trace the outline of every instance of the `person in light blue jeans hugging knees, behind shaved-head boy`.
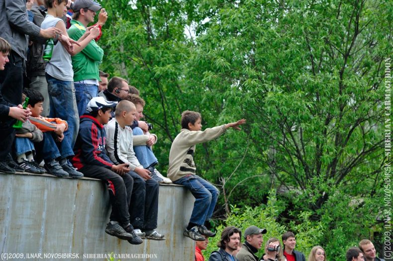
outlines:
[{"label": "person in light blue jeans hugging knees, behind shaved-head boy", "polygon": [[[145,101],[138,95],[131,94],[126,97],[127,100],[135,104],[136,120],[139,122],[143,118],[143,107]],[[152,126],[152,125],[150,125]],[[157,142],[157,136],[150,134],[149,131],[144,132],[141,128],[132,129],[134,135],[134,152],[139,163],[144,169],[150,171],[150,175],[159,183],[172,183],[171,179],[163,176],[157,169],[158,160],[153,153],[152,146]]]}]

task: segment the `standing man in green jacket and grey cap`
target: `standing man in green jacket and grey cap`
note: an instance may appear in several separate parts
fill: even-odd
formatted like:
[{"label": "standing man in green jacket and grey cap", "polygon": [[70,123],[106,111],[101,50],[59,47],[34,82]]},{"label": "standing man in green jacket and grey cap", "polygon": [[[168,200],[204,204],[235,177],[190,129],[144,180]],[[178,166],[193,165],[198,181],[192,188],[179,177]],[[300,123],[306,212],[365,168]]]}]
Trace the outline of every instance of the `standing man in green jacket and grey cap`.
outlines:
[{"label": "standing man in green jacket and grey cap", "polygon": [[[74,40],[83,39],[90,28],[88,24],[94,22],[96,12],[101,9],[101,5],[93,0],[75,0],[73,4],[73,20],[68,34]],[[94,28],[100,30],[98,25]],[[95,35],[94,38],[98,37]],[[78,106],[79,116],[86,112],[88,102],[98,94],[98,82],[100,81],[98,65],[102,63],[103,50],[96,41],[90,41],[82,52],[72,57],[72,67],[74,70],[75,96]]]}]

